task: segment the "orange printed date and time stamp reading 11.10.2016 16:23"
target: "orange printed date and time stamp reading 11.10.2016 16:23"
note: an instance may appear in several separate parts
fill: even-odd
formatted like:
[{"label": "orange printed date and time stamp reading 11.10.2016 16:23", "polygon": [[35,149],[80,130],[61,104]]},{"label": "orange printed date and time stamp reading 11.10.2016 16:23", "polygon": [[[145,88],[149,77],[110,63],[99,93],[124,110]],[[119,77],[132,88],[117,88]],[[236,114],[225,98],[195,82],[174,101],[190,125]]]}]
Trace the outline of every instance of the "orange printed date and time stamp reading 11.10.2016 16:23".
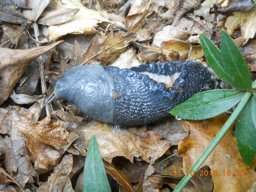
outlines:
[{"label": "orange printed date and time stamp reading 11.10.2016 16:23", "polygon": [[[182,176],[182,175],[180,175],[180,170],[178,170],[178,171],[173,170],[172,172],[173,172],[174,177],[175,176],[178,176],[178,177]],[[194,176],[194,175],[196,175],[196,176],[208,176],[208,175],[217,176],[220,173],[218,173],[217,170],[210,170],[210,171],[200,170],[200,172],[198,174],[196,174],[194,170],[191,170],[190,172],[186,171],[186,174],[188,174],[188,176],[189,176],[189,174],[191,176]],[[236,170],[235,172],[232,172],[231,170],[223,170],[221,174],[223,176],[244,176],[244,170]]]}]

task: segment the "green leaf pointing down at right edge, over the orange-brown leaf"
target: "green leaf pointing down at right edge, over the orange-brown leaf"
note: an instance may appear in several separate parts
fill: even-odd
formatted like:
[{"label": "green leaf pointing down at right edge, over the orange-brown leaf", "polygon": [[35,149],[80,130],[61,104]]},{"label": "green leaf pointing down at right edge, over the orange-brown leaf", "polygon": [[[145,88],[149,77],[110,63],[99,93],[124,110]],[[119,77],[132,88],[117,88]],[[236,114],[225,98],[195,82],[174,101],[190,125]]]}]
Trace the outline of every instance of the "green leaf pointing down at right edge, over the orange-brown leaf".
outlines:
[{"label": "green leaf pointing down at right edge, over the orange-brown leaf", "polygon": [[256,99],[247,103],[236,121],[236,142],[244,163],[249,166],[256,153]]}]

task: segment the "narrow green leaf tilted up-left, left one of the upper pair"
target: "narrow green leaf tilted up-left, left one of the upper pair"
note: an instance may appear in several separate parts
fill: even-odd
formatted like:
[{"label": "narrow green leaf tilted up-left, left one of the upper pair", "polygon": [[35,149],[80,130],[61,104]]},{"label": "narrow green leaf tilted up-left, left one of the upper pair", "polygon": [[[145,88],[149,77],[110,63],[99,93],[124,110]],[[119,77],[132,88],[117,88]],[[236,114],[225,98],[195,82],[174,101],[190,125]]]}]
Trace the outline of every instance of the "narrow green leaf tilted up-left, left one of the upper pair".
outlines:
[{"label": "narrow green leaf tilted up-left, left one of the upper pair", "polygon": [[205,58],[214,72],[220,79],[229,84],[232,77],[226,72],[223,66],[221,53],[218,47],[207,36],[200,34],[201,46],[204,51]]}]

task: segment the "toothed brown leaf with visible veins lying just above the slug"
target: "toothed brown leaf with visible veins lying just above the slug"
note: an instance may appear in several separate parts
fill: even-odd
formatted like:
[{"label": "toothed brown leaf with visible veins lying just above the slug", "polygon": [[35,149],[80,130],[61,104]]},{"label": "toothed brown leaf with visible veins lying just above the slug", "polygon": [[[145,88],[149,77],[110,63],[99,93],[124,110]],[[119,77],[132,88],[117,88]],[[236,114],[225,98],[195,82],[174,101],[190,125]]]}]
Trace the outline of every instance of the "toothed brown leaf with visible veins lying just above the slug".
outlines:
[{"label": "toothed brown leaf with visible veins lying just above the slug", "polygon": [[111,32],[107,38],[100,43],[98,34],[92,38],[86,53],[84,54],[83,64],[93,61],[101,64],[109,64],[116,60],[120,54],[120,49],[123,49],[134,38],[134,34],[129,33],[123,36],[123,32],[113,36]]}]

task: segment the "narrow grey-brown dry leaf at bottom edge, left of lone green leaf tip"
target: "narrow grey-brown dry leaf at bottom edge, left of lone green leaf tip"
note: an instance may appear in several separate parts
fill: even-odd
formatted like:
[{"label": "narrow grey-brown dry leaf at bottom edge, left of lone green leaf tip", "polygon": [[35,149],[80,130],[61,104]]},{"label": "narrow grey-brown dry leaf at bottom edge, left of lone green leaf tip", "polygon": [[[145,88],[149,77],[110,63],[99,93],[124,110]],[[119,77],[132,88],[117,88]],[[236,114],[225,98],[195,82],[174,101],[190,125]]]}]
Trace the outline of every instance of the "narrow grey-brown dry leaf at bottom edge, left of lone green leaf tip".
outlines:
[{"label": "narrow grey-brown dry leaf at bottom edge, left of lone green leaf tip", "polygon": [[72,166],[73,156],[71,154],[64,156],[61,163],[54,168],[54,172],[48,178],[48,181],[43,183],[37,189],[37,192],[62,191],[68,180]]}]

